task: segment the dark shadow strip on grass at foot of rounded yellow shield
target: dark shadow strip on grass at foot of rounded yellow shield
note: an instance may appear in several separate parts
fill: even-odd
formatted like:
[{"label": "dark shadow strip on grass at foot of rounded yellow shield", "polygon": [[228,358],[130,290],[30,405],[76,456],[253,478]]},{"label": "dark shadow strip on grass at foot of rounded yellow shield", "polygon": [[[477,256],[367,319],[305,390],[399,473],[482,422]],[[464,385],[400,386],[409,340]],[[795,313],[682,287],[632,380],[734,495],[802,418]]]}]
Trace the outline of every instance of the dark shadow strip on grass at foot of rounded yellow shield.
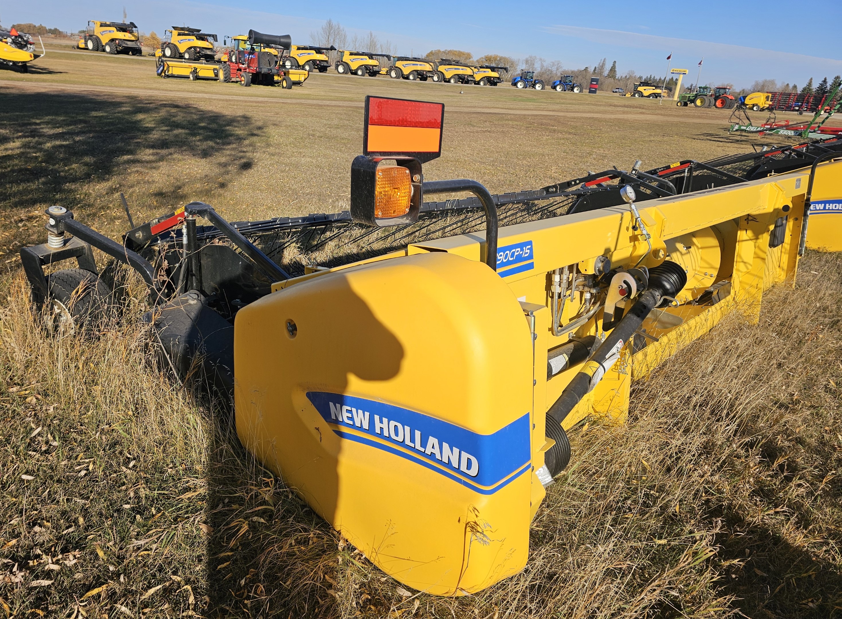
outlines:
[{"label": "dark shadow strip on grass at foot of rounded yellow shield", "polygon": [[216,403],[209,446],[206,616],[338,615],[338,535],[242,447]]}]

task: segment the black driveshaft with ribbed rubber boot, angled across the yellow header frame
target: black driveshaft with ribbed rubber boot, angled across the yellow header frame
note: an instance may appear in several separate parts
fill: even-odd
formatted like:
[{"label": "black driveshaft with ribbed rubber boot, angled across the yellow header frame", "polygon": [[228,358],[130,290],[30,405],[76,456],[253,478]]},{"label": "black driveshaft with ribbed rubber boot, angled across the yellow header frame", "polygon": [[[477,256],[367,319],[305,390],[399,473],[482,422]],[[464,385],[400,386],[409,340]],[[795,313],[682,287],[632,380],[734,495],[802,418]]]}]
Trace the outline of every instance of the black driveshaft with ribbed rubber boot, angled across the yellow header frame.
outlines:
[{"label": "black driveshaft with ribbed rubber boot, angled across the yellow header frame", "polygon": [[[678,264],[665,260],[663,264],[649,270],[649,287],[637,297],[632,308],[626,312],[616,327],[611,331],[600,347],[591,355],[590,359],[578,371],[573,380],[564,387],[562,395],[546,411],[547,436],[552,438],[555,426],[561,426],[564,419],[575,408],[596,384],[600,382],[605,372],[614,365],[620,356],[622,347],[632,338],[640,328],[649,312],[661,305],[665,296],[676,296],[687,284],[685,270]],[[551,430],[552,429],[552,430]],[[558,463],[563,462],[561,456],[552,453],[555,446],[546,452],[546,467],[552,477],[562,472]],[[564,462],[566,464],[566,462]]]}]

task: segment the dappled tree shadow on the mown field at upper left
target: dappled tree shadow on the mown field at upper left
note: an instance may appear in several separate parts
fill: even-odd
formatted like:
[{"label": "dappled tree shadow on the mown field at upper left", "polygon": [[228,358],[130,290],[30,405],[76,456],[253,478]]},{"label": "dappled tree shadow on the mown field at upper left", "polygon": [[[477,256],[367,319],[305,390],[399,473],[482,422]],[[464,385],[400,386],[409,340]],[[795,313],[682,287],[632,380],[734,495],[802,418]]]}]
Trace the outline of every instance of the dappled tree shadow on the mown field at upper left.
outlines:
[{"label": "dappled tree shadow on the mown field at upper left", "polygon": [[[229,168],[250,167],[252,156],[243,143],[258,135],[246,115],[136,98],[7,91],[0,93],[0,109],[4,210],[60,203],[73,207],[84,194],[76,184],[112,179],[132,164],[157,168],[179,156],[197,160],[196,177],[219,177]],[[149,183],[150,196],[171,203],[193,197],[187,179],[164,179],[165,186]]]}]

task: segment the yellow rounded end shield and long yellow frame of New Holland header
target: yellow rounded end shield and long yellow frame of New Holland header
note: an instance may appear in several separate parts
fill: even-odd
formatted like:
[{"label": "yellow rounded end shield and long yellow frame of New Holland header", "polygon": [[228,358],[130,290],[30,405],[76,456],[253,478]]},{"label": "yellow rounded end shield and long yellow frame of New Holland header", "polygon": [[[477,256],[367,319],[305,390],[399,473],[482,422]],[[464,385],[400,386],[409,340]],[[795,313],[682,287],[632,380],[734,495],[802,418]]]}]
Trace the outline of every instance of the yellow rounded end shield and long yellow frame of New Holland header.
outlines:
[{"label": "yellow rounded end shield and long yellow frame of New Holland header", "polygon": [[[809,177],[502,227],[496,272],[472,232],[276,283],[237,314],[240,440],[405,585],[517,574],[564,430],[623,423],[632,380],[792,284]],[[842,250],[842,162],[812,198]]]}]

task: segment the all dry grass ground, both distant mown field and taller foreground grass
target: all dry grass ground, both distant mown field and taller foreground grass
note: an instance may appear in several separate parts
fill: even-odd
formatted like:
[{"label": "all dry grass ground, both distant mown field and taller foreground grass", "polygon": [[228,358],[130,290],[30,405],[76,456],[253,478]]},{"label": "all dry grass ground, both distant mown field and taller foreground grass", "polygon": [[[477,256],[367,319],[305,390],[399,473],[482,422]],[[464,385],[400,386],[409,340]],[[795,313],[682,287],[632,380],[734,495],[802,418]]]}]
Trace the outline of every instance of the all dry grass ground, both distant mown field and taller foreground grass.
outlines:
[{"label": "all dry grass ground, both distant mown field and taller foreground grass", "polygon": [[[130,300],[94,341],[47,339],[17,250],[61,204],[112,236],[188,200],[232,219],[337,211],[365,93],[446,104],[428,179],[493,192],[748,150],[669,102],[316,75],[303,88],[154,77],[49,51],[0,72],[0,608],[90,617],[829,617],[842,608],[842,259],[811,253],[758,325],[733,317],[573,431],[522,574],[403,595],[258,467],[224,406],[173,387]],[[460,94],[464,91],[464,94]]]}]

